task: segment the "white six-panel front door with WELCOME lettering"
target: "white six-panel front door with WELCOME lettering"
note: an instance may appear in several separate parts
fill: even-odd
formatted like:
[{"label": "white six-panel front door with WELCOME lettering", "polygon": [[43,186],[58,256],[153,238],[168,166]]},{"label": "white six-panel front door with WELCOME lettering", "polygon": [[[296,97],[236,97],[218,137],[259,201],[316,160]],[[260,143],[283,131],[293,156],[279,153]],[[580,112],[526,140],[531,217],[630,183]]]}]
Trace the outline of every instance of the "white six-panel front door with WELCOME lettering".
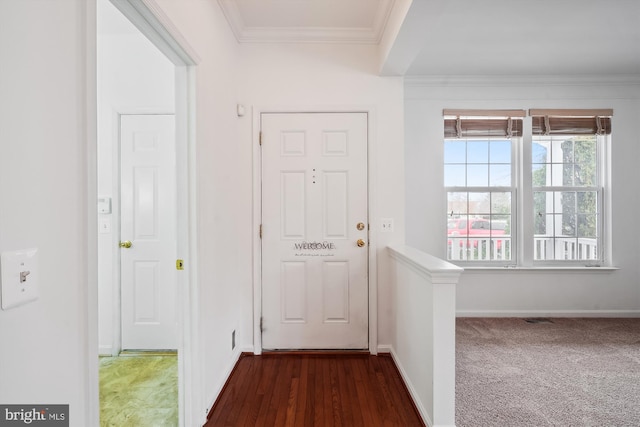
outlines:
[{"label": "white six-panel front door with WELCOME lettering", "polygon": [[262,347],[367,349],[367,114],[262,114],[261,131]]}]

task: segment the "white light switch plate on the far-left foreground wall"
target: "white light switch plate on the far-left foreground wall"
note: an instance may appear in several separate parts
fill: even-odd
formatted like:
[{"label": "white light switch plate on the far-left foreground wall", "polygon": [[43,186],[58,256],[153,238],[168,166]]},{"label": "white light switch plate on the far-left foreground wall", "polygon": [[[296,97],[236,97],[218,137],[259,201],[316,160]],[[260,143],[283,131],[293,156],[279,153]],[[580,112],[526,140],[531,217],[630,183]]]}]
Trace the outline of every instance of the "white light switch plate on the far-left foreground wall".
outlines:
[{"label": "white light switch plate on the far-left foreground wall", "polygon": [[2,309],[38,299],[38,249],[2,252],[0,255]]}]

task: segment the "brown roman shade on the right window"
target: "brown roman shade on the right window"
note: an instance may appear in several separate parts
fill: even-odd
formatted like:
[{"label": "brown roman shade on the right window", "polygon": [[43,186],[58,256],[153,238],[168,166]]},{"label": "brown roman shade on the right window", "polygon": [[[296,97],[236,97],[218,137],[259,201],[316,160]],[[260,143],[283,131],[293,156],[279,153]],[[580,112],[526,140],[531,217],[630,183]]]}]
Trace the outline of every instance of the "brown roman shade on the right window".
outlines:
[{"label": "brown roman shade on the right window", "polygon": [[531,109],[534,135],[609,135],[613,110]]}]

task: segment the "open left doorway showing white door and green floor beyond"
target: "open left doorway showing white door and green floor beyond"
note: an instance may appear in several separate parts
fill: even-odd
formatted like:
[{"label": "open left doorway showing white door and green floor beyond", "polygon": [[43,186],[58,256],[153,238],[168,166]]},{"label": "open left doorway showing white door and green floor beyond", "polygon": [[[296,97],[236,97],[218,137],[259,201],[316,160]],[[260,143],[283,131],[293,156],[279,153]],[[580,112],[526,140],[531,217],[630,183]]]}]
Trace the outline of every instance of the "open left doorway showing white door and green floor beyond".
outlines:
[{"label": "open left doorway showing white door and green floor beyond", "polygon": [[194,63],[143,2],[97,0],[96,12],[101,425],[145,407],[190,425]]}]

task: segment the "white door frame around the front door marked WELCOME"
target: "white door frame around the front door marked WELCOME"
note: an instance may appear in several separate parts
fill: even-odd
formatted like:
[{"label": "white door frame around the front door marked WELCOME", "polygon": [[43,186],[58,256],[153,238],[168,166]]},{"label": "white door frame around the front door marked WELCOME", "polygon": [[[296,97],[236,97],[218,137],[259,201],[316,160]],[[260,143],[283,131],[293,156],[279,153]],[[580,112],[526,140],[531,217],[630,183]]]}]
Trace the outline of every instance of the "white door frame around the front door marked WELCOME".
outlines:
[{"label": "white door frame around the front door marked WELCOME", "polygon": [[366,113],[367,114],[367,182],[369,201],[369,352],[378,354],[378,263],[377,223],[375,197],[377,174],[376,139],[373,124],[373,107],[327,106],[327,107],[254,107],[253,108],[253,352],[262,354],[262,245],[260,224],[262,223],[262,161],[260,151],[261,116],[267,113]]}]

